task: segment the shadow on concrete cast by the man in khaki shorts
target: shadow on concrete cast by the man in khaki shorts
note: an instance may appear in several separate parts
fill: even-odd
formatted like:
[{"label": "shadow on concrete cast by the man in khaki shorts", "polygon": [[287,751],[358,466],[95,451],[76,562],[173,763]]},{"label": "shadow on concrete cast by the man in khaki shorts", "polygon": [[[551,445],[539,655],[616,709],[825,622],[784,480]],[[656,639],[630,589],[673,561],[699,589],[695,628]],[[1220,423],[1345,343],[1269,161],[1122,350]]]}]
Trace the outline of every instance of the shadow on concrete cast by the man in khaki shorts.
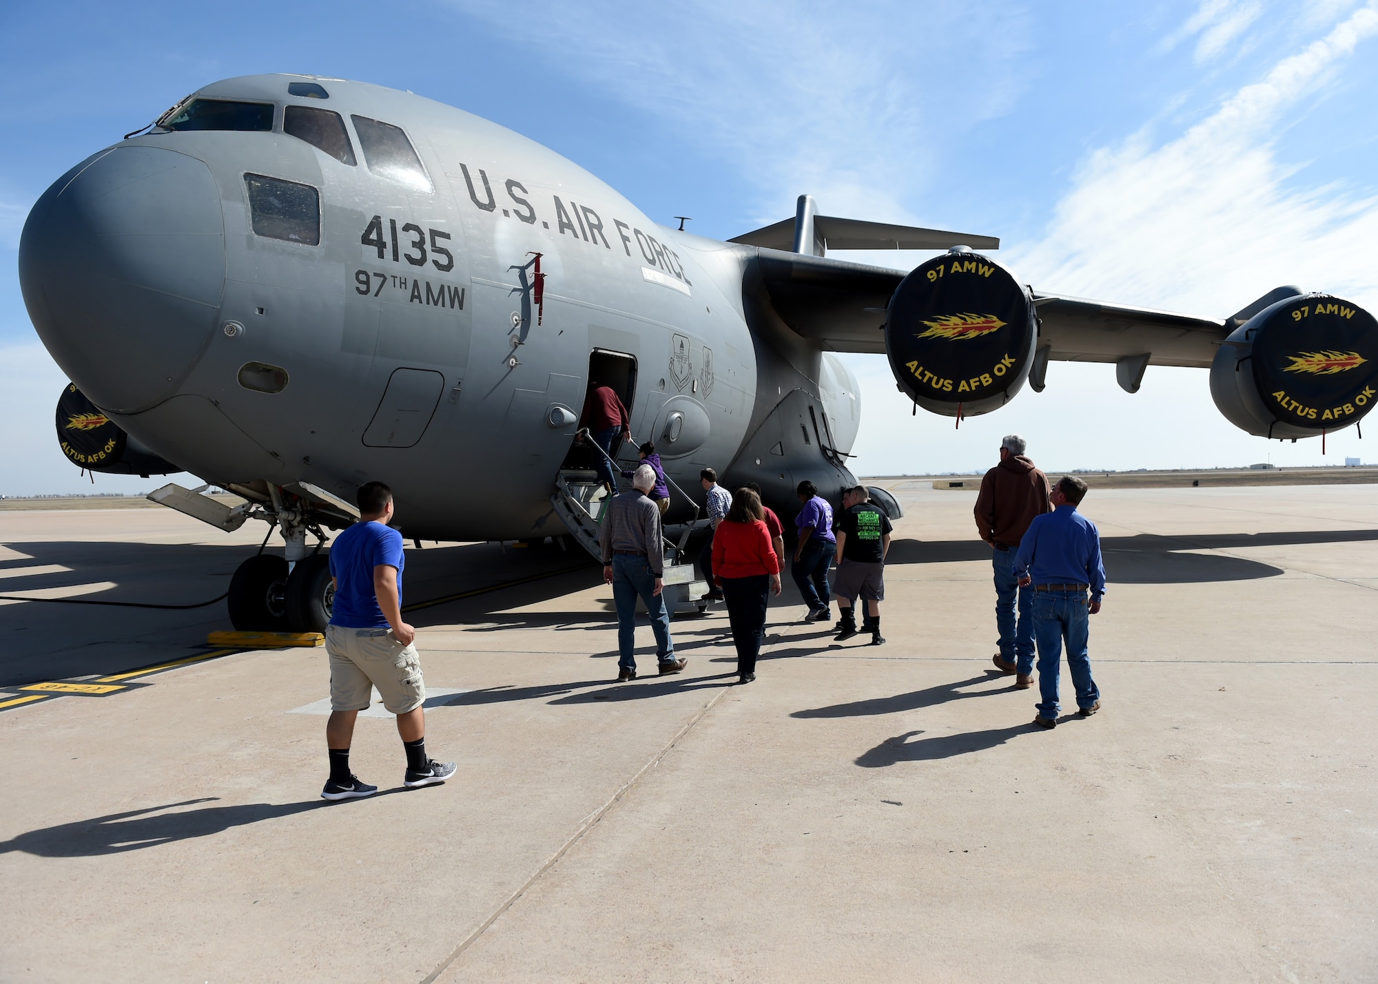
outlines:
[{"label": "shadow on concrete cast by the man in khaki shorts", "polygon": [[[395,792],[397,790],[390,790]],[[379,795],[383,795],[382,792]],[[216,802],[218,797],[187,799],[164,806],[149,806],[142,810],[109,813],[92,820],[44,827],[19,834],[10,841],[0,841],[0,854],[22,850],[39,857],[98,857],[120,854],[128,850],[157,848],[175,841],[189,841],[197,837],[220,834],[230,827],[276,820],[277,817],[305,813],[325,806],[338,806],[324,799],[310,799],[299,803],[241,803],[238,806],[201,806],[193,810],[178,810],[181,806]],[[178,810],[164,813],[163,810]]]}]

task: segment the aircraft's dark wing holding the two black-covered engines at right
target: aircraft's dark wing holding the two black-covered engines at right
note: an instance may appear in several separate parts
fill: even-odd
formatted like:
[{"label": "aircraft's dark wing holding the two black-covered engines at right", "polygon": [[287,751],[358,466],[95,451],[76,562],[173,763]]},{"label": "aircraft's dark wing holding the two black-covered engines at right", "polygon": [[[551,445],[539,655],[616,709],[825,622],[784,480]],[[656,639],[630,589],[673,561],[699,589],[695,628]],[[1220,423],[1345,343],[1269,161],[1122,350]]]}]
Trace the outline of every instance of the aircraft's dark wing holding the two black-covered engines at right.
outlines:
[{"label": "aircraft's dark wing holding the two black-covered engines at right", "polygon": [[[780,249],[758,249],[757,269],[770,305],[796,334],[832,351],[885,353],[885,309],[903,270]],[[1039,291],[1034,303],[1039,347],[1073,362],[1148,354],[1151,365],[1209,368],[1236,321],[1243,324],[1239,316],[1202,318]]]}]

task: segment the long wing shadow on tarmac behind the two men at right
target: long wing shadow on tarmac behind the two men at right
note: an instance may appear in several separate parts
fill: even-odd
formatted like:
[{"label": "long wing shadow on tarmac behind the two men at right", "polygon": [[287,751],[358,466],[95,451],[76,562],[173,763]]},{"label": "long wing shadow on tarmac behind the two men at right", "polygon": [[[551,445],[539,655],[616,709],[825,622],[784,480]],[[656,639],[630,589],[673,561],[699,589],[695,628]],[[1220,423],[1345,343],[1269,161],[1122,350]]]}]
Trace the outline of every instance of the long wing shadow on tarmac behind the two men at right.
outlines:
[{"label": "long wing shadow on tarmac behind the two men at right", "polygon": [[[1112,584],[1197,584],[1226,580],[1276,577],[1282,568],[1272,564],[1224,557],[1191,554],[1186,550],[1239,550],[1244,547],[1283,547],[1309,543],[1361,543],[1378,540],[1378,529],[1301,531],[1293,533],[1222,533],[1206,536],[1107,536],[1101,539],[1105,554],[1105,579]],[[886,565],[954,564],[991,560],[991,549],[980,540],[896,540],[890,544]]]}]

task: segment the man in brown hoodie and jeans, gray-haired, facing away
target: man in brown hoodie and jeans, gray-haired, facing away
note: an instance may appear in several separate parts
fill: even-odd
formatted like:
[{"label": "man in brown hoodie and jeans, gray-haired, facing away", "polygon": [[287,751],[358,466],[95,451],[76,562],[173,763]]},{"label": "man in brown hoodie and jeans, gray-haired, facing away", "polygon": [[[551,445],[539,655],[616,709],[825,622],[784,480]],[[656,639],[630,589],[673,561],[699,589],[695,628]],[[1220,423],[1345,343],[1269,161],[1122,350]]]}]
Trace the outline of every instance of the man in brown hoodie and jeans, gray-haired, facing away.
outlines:
[{"label": "man in brown hoodie and jeans, gray-haired, facing away", "polygon": [[[1014,577],[1014,554],[1035,515],[1051,513],[1047,475],[1024,456],[1027,442],[1018,434],[1000,441],[1000,463],[985,473],[976,498],[976,528],[991,544],[995,569],[995,626],[1000,652],[991,657],[1002,673],[1017,674],[1014,686],[1034,682],[1034,588],[1020,587]],[[1018,617],[1014,601],[1018,595]]]}]

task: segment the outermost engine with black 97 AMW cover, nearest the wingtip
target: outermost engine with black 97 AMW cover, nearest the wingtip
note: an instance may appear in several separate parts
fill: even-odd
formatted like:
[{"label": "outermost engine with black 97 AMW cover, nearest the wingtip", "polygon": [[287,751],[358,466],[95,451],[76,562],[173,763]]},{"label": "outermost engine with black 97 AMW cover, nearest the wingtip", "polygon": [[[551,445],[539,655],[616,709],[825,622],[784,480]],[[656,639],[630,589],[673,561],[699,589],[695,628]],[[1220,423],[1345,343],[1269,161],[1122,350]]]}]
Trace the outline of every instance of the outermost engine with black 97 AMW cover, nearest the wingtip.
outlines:
[{"label": "outermost engine with black 97 AMW cover, nearest the wingtip", "polygon": [[1258,437],[1315,437],[1357,423],[1378,400],[1378,321],[1328,294],[1286,298],[1221,345],[1215,407]]}]

